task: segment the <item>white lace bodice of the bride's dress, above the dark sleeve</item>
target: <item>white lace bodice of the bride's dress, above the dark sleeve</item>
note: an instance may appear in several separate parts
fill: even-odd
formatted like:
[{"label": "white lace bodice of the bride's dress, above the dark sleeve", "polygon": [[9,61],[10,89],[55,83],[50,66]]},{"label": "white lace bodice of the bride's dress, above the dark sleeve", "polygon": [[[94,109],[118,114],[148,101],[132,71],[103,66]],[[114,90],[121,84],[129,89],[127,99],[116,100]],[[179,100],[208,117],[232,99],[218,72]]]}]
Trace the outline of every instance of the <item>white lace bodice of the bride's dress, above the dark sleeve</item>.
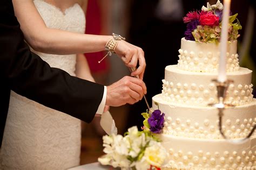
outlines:
[{"label": "white lace bodice of the bride's dress, above the dark sleeve", "polygon": [[[56,6],[46,3],[42,0],[34,1],[38,12],[44,20],[47,27],[77,33],[85,31],[85,16],[82,8],[74,4],[62,12]],[[32,49],[33,51],[33,49]],[[35,51],[33,51],[35,52]],[[48,62],[51,67],[62,68],[71,75],[75,75],[76,55],[54,55],[35,52],[41,58]]]}]

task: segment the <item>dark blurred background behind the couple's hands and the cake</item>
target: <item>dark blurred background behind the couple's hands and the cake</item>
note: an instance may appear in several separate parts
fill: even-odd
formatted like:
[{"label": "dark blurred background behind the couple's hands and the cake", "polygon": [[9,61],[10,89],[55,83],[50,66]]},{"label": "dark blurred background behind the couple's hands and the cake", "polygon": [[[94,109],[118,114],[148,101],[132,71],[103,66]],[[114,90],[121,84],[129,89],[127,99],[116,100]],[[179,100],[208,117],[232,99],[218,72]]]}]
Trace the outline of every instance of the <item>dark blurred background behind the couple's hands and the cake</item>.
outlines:
[{"label": "dark blurred background behind the couple's hands and the cake", "polygon": [[[86,33],[113,32],[122,35],[131,44],[143,48],[147,63],[144,74],[146,98],[151,105],[151,98],[161,93],[165,67],[177,64],[180,39],[184,37],[186,29],[182,18],[187,12],[206,6],[206,2],[215,4],[217,0],[88,0]],[[256,85],[255,4],[255,0],[231,2],[232,13],[239,14],[238,19],[242,25],[241,36],[238,39],[240,66],[253,70],[252,83]],[[109,85],[130,74],[129,69],[116,55],[107,56],[98,64],[98,60],[105,54],[85,54],[96,82]],[[255,90],[253,93],[255,96]],[[124,134],[127,128],[133,125],[140,129],[143,124],[143,117],[140,114],[145,112],[146,108],[144,100],[134,105],[110,108],[118,133]],[[82,125],[81,165],[96,162],[97,158],[104,154],[102,136],[105,134],[100,128],[99,117],[95,117],[90,124]]]}]

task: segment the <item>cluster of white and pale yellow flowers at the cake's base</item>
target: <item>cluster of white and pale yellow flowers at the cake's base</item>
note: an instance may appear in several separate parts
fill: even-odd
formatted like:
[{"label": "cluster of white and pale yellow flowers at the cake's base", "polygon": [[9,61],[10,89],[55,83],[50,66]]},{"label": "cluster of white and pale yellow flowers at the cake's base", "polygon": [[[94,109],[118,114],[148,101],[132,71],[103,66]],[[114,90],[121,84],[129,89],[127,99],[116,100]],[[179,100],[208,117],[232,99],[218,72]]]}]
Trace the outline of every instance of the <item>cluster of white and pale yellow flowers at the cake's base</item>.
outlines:
[{"label": "cluster of white and pale yellow flowers at the cake's base", "polygon": [[167,152],[160,141],[145,131],[132,126],[124,136],[112,134],[103,137],[104,152],[98,161],[121,169],[160,169]]}]

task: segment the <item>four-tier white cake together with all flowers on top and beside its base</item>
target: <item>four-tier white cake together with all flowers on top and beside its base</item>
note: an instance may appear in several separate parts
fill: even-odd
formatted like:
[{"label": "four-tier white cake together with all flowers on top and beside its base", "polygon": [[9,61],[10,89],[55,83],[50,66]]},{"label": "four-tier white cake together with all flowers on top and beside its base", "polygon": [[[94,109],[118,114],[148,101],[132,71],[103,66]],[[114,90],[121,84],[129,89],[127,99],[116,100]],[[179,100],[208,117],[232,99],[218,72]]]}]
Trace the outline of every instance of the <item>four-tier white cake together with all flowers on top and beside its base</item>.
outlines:
[{"label": "four-tier white cake together with all flowers on top and beside its base", "polygon": [[[166,66],[162,93],[142,114],[143,131],[132,127],[124,137],[103,137],[106,155],[99,162],[123,169],[256,169],[256,133],[243,143],[223,139],[218,110],[208,106],[218,101],[212,80],[218,75],[223,7],[218,1],[187,13],[178,64]],[[226,53],[233,83],[225,103],[234,107],[225,108],[221,127],[233,141],[256,124],[252,70],[239,67],[237,16],[230,15]]]}]

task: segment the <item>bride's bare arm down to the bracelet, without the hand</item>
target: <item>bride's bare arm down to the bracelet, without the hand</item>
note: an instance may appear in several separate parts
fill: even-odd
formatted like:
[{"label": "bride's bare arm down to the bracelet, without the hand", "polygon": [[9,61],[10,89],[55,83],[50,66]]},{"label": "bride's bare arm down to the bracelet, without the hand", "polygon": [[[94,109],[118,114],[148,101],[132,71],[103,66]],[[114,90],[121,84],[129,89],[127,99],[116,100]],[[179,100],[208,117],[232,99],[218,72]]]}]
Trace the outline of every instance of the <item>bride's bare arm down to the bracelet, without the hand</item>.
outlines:
[{"label": "bride's bare arm down to the bracelet, without the hand", "polygon": [[79,34],[49,29],[32,0],[13,0],[15,16],[21,24],[25,40],[39,52],[77,54],[103,51],[111,36]]}]

